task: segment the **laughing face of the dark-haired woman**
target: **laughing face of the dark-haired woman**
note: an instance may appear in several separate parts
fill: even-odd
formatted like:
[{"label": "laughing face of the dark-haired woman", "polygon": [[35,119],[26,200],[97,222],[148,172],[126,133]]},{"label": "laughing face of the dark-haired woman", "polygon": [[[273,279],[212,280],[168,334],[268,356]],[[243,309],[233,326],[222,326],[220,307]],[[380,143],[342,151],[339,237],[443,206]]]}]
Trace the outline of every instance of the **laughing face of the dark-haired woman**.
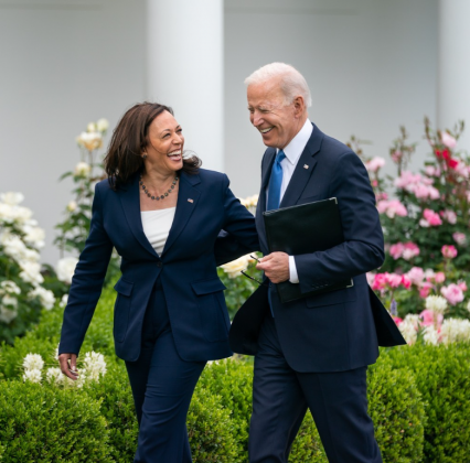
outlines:
[{"label": "laughing face of the dark-haired woman", "polygon": [[161,173],[177,172],[183,168],[184,137],[177,119],[163,111],[149,126],[146,164]]}]

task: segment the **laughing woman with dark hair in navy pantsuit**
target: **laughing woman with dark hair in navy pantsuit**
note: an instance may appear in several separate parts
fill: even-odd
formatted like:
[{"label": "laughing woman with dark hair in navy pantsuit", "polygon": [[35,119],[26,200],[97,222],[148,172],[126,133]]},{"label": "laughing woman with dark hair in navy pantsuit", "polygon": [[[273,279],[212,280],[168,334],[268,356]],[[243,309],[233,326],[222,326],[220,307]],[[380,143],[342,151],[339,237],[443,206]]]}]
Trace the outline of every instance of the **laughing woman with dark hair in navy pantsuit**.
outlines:
[{"label": "laughing woman with dark hair in navy pantsuit", "polygon": [[[194,387],[206,360],[232,355],[216,265],[259,248],[254,217],[227,176],[184,159],[183,146],[171,108],[143,103],[124,115],[105,159],[108,180],[95,189],[62,326],[61,369],[76,378],[115,247],[122,276],[114,337],[139,421],[136,463],[191,462],[185,418]],[[216,244],[221,230],[231,239]]]}]

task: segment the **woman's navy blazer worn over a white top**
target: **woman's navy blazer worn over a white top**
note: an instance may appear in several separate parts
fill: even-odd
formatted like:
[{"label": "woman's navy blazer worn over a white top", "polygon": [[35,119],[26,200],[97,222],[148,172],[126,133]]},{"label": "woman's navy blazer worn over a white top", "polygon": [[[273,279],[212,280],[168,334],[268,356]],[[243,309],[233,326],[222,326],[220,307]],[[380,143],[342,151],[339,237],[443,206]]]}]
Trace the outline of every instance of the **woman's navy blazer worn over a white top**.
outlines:
[{"label": "woman's navy blazer worn over a white top", "polygon": [[[221,229],[243,251],[259,249],[253,215],[228,189],[225,174],[201,169],[181,173],[177,211],[161,256],[143,234],[138,176],[117,192],[108,181],[95,189],[93,217],[64,312],[60,353],[78,354],[98,302],[113,247],[121,257],[114,316],[116,354],[133,362],[140,354],[143,315],[160,277],[174,343],[184,360],[232,355],[224,284],[217,277],[214,251]],[[221,255],[231,254],[221,249]],[[239,255],[229,255],[235,258]]]}]

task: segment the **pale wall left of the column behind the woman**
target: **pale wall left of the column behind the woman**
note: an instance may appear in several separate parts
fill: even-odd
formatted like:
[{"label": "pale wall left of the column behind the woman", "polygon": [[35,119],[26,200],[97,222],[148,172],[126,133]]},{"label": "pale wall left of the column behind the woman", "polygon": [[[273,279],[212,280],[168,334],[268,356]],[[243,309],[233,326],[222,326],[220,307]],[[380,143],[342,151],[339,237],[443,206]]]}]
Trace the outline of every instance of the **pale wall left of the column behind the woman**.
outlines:
[{"label": "pale wall left of the column behind the woman", "polygon": [[1,0],[0,44],[0,192],[23,192],[55,263],[72,186],[57,179],[79,160],[75,137],[145,98],[145,1]]}]

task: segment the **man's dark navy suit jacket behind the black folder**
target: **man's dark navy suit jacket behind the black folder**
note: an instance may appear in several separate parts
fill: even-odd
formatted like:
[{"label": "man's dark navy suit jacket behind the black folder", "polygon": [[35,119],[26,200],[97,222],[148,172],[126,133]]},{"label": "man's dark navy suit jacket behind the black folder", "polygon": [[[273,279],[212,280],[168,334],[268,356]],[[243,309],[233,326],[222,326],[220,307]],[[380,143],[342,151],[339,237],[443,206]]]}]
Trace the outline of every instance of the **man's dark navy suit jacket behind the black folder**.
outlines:
[{"label": "man's dark navy suit jacket behind the black folder", "polygon": [[[268,254],[263,212],[275,149],[261,163],[256,225]],[[280,207],[337,197],[344,243],[329,250],[295,256],[302,292],[325,281],[353,278],[352,288],[282,304],[273,286],[271,303],[280,345],[297,372],[341,372],[372,364],[377,334],[365,272],[384,260],[384,240],[375,196],[359,157],[317,126],[299,159]],[[321,226],[321,224],[319,224]]]}]

